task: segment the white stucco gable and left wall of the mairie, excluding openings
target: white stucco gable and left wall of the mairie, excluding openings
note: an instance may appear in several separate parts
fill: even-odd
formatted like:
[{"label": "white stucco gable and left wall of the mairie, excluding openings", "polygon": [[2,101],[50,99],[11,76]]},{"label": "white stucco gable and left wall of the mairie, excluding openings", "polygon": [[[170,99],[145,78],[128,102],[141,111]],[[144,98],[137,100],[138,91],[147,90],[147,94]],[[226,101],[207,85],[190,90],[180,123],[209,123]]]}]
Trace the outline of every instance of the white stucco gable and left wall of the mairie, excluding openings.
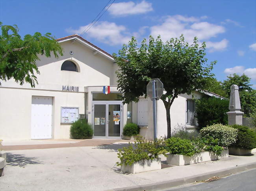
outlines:
[{"label": "white stucco gable and left wall of the mairie, excluding openings", "polygon": [[[84,87],[116,84],[113,60],[96,53],[72,40],[61,42],[63,56],[56,59],[40,56],[37,66],[40,75],[38,84],[32,88],[30,84],[19,85],[14,80],[1,81],[0,86],[0,139],[31,138],[31,104],[32,96],[53,97],[53,138],[69,138],[70,125],[61,125],[61,106],[79,107],[84,114]],[[70,55],[70,51],[73,55]],[[61,71],[65,60],[72,60],[78,66],[78,72]],[[79,92],[62,91],[62,85],[79,87]]]}]

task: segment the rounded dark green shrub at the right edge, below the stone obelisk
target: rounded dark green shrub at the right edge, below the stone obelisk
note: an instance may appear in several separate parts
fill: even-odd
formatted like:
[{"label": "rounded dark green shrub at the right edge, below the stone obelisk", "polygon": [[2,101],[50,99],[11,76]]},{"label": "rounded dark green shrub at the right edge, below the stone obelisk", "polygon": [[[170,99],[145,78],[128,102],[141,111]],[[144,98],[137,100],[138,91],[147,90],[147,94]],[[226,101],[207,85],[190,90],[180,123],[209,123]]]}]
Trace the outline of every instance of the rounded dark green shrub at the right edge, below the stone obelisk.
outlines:
[{"label": "rounded dark green shrub at the right edge, below the stone obelisk", "polygon": [[247,126],[233,125],[238,130],[237,140],[229,147],[230,155],[248,155],[256,153],[256,132]]}]

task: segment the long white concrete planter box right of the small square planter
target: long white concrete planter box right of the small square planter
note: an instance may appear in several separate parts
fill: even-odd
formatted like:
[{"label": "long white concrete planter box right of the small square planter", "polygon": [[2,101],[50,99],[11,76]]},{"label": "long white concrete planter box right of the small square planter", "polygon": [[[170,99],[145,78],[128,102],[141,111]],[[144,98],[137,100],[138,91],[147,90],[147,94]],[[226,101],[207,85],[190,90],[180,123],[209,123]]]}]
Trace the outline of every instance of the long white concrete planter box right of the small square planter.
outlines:
[{"label": "long white concrete planter box right of the small square planter", "polygon": [[224,149],[221,152],[221,156],[215,155],[212,151],[195,153],[195,155],[193,155],[193,156],[168,154],[167,155],[167,164],[182,166],[182,165],[205,162],[205,161],[209,161],[209,160],[219,160],[221,158],[227,158],[227,157],[228,157],[228,149]]}]

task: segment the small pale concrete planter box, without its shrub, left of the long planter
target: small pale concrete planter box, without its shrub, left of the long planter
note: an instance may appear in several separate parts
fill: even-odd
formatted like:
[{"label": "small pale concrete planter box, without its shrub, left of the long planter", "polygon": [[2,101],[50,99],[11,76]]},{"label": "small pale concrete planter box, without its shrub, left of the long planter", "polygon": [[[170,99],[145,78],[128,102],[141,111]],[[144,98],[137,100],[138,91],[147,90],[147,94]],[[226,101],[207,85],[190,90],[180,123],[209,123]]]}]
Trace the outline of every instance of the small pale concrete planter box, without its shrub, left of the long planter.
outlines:
[{"label": "small pale concrete planter box, without its shrub, left of the long planter", "polygon": [[121,171],[128,173],[142,173],[159,169],[161,169],[161,158],[156,158],[153,160],[140,160],[134,162],[132,165],[122,164],[121,166]]}]

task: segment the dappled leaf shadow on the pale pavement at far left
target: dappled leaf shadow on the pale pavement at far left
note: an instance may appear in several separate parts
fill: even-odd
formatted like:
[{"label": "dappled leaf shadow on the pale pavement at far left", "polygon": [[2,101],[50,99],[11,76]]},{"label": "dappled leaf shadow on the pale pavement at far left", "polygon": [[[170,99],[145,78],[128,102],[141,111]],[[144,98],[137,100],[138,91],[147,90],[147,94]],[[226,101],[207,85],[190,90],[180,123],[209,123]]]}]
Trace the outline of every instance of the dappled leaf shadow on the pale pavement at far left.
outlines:
[{"label": "dappled leaf shadow on the pale pavement at far left", "polygon": [[37,157],[27,157],[25,155],[6,153],[6,163],[9,166],[24,167],[28,164],[43,164]]}]

